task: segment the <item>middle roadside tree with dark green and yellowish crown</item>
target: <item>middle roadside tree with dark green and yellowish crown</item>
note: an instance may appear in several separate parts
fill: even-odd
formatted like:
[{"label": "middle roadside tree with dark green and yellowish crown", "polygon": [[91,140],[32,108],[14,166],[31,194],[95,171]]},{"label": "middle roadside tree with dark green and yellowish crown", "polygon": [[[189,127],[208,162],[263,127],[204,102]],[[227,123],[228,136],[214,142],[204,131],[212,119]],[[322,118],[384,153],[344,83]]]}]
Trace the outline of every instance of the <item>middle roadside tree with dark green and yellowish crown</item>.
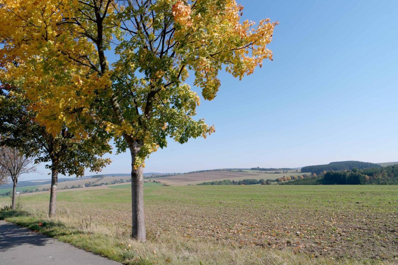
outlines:
[{"label": "middle roadside tree with dark green and yellowish crown", "polygon": [[[4,80],[0,86],[0,144],[18,148],[29,161],[47,163],[51,170],[49,216],[56,215],[58,174],[84,175],[84,170],[101,171],[110,163],[101,156],[110,151],[109,135],[105,130],[86,126],[89,137],[81,139],[66,126],[59,133],[48,133],[45,126],[35,121],[35,112],[28,109],[30,102],[23,90]],[[90,123],[88,123],[90,125]],[[92,126],[92,125],[91,125]],[[14,150],[12,149],[12,150]],[[13,179],[14,181],[14,179]],[[16,179],[18,181],[18,178]],[[14,182],[14,187],[16,182]],[[14,203],[14,199],[13,199]]]}]

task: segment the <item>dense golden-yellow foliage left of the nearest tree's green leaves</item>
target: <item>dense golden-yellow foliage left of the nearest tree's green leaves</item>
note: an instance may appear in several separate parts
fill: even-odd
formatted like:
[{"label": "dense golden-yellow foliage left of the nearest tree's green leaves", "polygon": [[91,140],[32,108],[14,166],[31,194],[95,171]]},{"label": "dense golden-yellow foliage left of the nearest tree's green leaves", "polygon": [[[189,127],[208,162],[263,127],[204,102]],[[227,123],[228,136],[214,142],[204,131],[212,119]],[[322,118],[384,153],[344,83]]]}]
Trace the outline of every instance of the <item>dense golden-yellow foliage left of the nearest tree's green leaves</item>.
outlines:
[{"label": "dense golden-yellow foliage left of the nearest tree's green leaves", "polygon": [[[99,77],[90,67],[98,65],[94,43],[82,38],[79,25],[68,23],[79,6],[75,0],[62,0],[62,4],[59,0],[2,0],[0,5],[0,20],[5,21],[0,25],[4,43],[0,77],[22,81],[26,96],[35,102],[31,109],[37,111],[37,121],[51,133],[66,125],[82,134],[77,115],[91,119],[88,108],[95,93],[111,86],[108,75]],[[91,22],[82,23],[86,29],[92,27]]]}]

